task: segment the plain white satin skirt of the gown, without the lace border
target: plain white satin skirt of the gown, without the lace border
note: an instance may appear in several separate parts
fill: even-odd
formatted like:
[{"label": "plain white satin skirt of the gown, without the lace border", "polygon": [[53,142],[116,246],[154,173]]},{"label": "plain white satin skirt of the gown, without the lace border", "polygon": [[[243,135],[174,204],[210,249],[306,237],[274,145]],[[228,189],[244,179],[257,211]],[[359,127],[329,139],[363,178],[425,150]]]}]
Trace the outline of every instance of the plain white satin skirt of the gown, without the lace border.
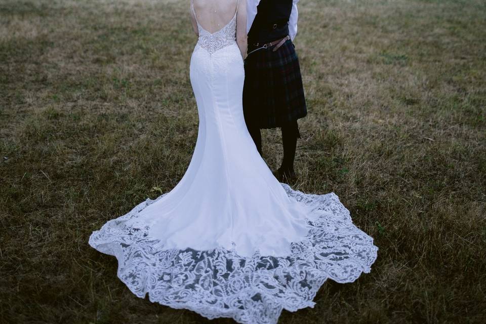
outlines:
[{"label": "plain white satin skirt of the gown, without the lace border", "polygon": [[143,211],[149,234],[168,249],[234,247],[245,257],[257,250],[287,256],[291,242],[307,235],[304,207],[289,198],[248,132],[244,74],[235,42],[213,54],[198,45],[192,54],[194,153],[177,186]]}]

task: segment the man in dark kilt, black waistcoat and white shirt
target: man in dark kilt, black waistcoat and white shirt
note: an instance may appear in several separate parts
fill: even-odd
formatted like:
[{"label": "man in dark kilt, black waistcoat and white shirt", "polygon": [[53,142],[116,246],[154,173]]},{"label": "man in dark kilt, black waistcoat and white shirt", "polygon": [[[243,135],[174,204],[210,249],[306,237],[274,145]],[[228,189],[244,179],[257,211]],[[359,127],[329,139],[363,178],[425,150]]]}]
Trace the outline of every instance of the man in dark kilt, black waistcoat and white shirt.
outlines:
[{"label": "man in dark kilt, black waistcoat and white shirt", "polygon": [[281,128],[284,159],[274,172],[280,182],[296,180],[294,158],[300,138],[297,119],[307,114],[299,59],[292,43],[297,33],[298,2],[247,0],[243,112],[260,155],[260,129]]}]

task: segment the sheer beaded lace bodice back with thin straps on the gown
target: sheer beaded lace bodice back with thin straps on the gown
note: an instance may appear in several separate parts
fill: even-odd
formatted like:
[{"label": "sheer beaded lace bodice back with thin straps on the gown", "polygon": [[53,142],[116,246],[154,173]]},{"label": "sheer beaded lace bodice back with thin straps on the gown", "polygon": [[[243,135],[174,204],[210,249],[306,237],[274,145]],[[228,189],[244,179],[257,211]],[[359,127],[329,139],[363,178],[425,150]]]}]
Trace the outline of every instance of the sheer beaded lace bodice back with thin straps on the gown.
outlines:
[{"label": "sheer beaded lace bodice back with thin straps on the gown", "polygon": [[[194,18],[196,14],[194,12],[194,6],[191,1],[191,8],[192,12],[194,13]],[[204,29],[199,22],[197,21],[197,29],[199,32],[199,39],[197,44],[207,50],[210,54],[214,52],[230,46],[236,42],[236,12],[234,13],[233,18],[220,30],[210,33],[206,29]]]}]

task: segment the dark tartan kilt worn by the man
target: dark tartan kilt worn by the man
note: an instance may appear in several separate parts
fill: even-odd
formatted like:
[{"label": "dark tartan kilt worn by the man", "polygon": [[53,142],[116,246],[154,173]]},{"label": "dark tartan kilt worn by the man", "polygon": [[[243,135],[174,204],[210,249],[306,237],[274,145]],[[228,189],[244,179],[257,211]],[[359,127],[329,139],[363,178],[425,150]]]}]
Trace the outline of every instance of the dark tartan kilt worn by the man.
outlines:
[{"label": "dark tartan kilt worn by the man", "polygon": [[307,115],[294,44],[288,39],[277,51],[273,47],[245,59],[243,112],[247,126],[281,127]]}]

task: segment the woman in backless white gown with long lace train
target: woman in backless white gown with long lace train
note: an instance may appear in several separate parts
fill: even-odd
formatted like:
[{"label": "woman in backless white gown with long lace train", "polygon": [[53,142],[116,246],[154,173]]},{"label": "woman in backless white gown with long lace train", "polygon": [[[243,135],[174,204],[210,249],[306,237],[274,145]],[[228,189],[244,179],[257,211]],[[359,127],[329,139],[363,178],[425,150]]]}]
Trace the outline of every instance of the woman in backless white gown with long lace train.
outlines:
[{"label": "woman in backless white gown with long lace train", "polygon": [[190,80],[199,128],[180,182],[94,231],[138,297],[207,318],[276,323],[313,307],[323,282],[370,272],[378,248],[334,193],[279,183],[242,111],[246,0],[193,0]]}]

